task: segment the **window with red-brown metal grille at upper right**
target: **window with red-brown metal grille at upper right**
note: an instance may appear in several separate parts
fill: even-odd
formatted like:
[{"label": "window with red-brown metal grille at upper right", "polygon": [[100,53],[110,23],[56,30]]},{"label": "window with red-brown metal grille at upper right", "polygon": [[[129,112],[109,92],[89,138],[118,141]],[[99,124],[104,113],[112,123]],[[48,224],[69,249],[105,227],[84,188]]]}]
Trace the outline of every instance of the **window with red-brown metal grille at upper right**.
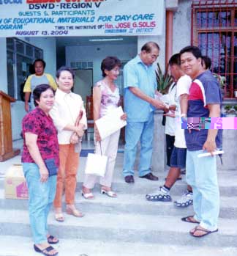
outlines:
[{"label": "window with red-brown metal grille at upper right", "polygon": [[225,98],[237,90],[237,0],[193,0],[192,44],[211,58],[211,71],[225,77]]}]

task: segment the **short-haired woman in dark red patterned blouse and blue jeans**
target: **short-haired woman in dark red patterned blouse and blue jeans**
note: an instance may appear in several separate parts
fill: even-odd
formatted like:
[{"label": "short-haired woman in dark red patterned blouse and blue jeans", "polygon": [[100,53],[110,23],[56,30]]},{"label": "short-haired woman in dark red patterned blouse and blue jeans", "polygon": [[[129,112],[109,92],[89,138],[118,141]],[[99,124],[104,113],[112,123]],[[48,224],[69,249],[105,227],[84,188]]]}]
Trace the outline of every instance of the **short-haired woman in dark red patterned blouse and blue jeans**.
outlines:
[{"label": "short-haired woman in dark red patterned blouse and blue jeans", "polygon": [[[34,250],[44,255],[57,255],[50,244],[59,240],[48,233],[47,218],[56,192],[59,167],[57,131],[49,111],[54,103],[54,91],[40,84],[33,91],[36,109],[26,114],[23,129],[23,172],[29,189],[29,217],[34,238]],[[53,169],[50,173],[48,167]]]}]

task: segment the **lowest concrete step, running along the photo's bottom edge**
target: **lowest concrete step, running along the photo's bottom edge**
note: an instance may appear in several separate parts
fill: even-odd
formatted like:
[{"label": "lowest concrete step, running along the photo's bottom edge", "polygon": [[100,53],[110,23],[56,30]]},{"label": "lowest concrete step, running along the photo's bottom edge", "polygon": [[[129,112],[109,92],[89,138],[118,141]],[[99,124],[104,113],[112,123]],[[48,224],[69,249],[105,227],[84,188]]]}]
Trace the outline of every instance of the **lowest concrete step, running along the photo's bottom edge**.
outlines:
[{"label": "lowest concrete step, running along the photo's bottom edge", "polygon": [[[17,243],[14,243],[17,241]],[[34,252],[31,238],[0,235],[0,246],[4,256],[39,256]],[[212,246],[176,246],[135,242],[86,241],[82,239],[60,239],[54,246],[59,256],[236,256],[237,248]],[[4,254],[2,254],[4,252]]]}]

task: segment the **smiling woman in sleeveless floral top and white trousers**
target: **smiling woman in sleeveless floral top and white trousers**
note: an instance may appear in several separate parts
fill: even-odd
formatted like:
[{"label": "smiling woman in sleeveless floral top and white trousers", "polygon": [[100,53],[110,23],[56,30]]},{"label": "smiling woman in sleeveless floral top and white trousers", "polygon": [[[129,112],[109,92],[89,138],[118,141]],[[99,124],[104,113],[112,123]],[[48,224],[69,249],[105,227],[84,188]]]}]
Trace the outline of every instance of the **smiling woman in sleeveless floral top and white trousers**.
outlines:
[{"label": "smiling woman in sleeveless floral top and white trousers", "polygon": [[[98,81],[93,89],[94,121],[108,114],[110,109],[115,109],[119,106],[119,88],[116,87],[115,81],[119,76],[120,67],[121,61],[117,57],[108,56],[102,60],[101,70],[104,78]],[[123,114],[121,119],[126,120],[127,114]],[[101,194],[106,194],[108,197],[117,197],[116,193],[111,189],[111,184],[119,146],[120,130],[102,140],[100,139],[96,125],[94,126],[94,131],[95,153],[102,153],[103,155],[108,156],[105,177],[99,178]],[[82,195],[84,198],[94,199],[94,194],[91,193],[91,189],[94,188],[96,181],[97,176],[95,175],[85,176],[82,189]]]}]

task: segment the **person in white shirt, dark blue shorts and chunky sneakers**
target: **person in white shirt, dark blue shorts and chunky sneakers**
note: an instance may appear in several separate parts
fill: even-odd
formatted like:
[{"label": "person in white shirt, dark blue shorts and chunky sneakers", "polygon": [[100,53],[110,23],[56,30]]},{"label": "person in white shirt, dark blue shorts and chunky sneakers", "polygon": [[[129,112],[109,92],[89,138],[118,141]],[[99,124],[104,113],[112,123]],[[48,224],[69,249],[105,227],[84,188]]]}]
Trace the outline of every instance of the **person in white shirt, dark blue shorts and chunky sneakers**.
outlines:
[{"label": "person in white shirt, dark blue shorts and chunky sneakers", "polygon": [[[181,122],[178,122],[178,120],[181,120],[182,117],[181,106],[187,106],[187,95],[189,95],[189,87],[192,80],[181,70],[179,54],[174,54],[171,56],[169,65],[170,73],[174,80],[177,81],[177,108],[176,112],[173,113],[173,115],[171,114],[173,117],[178,117],[176,118],[175,124],[175,142],[170,159],[170,170],[165,180],[165,184],[160,187],[158,191],[154,191],[154,193],[146,195],[146,200],[149,201],[171,201],[170,189],[179,177],[181,169],[184,168],[186,164],[187,147],[184,138],[184,130],[181,129]],[[184,191],[182,197],[174,203],[177,207],[183,208],[192,205],[192,188],[188,186],[187,191]]]}]

